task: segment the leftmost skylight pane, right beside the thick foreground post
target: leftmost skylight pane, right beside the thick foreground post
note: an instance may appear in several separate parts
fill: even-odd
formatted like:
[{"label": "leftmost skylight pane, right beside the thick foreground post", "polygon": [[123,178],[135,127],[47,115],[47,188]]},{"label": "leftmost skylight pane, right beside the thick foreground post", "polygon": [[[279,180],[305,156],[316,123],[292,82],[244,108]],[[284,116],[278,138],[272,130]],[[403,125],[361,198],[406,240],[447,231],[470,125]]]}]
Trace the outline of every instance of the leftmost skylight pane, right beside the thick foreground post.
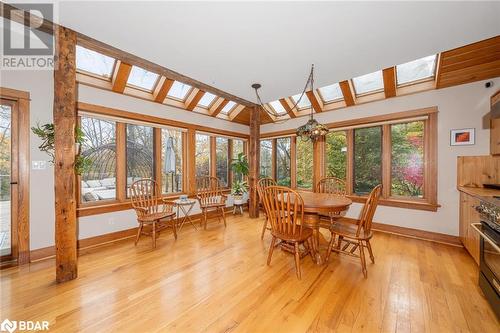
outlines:
[{"label": "leftmost skylight pane, right beside the thick foreground post", "polygon": [[104,54],[76,46],[76,68],[110,79],[116,60]]}]

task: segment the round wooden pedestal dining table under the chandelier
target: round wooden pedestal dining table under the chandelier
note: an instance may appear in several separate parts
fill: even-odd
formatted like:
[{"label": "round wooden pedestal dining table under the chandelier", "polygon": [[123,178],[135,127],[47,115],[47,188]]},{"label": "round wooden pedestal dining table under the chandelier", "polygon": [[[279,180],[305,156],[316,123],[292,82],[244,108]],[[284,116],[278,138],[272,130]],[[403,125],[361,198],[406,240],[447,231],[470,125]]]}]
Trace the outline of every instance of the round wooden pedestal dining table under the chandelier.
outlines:
[{"label": "round wooden pedestal dining table under the chandelier", "polygon": [[[313,243],[316,250],[316,263],[322,265],[324,262],[323,256],[319,249],[319,220],[321,215],[331,213],[341,213],[349,209],[351,199],[329,194],[316,193],[310,191],[297,191],[304,201],[304,225],[313,229]],[[293,202],[293,199],[291,199]]]}]

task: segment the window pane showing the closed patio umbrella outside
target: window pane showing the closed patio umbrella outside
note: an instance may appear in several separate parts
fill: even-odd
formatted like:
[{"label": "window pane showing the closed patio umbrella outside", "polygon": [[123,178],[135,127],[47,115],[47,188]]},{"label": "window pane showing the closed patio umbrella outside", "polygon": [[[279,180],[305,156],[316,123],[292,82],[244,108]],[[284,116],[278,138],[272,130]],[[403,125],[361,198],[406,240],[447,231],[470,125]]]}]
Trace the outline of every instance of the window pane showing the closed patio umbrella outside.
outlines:
[{"label": "window pane showing the closed patio umbrella outside", "polygon": [[162,193],[182,192],[182,132],[161,130]]}]

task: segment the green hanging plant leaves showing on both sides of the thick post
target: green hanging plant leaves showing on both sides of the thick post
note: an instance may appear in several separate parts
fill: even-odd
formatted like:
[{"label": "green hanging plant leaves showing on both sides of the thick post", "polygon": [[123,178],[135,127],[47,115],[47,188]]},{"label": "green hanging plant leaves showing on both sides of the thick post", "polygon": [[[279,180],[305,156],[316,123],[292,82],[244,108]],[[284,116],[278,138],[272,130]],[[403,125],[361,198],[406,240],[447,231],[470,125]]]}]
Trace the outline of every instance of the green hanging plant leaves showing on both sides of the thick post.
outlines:
[{"label": "green hanging plant leaves showing on both sides of the thick post", "polygon": [[[42,140],[38,146],[40,151],[50,156],[50,163],[55,162],[55,127],[54,124],[37,124],[31,128],[33,133]],[[85,135],[80,127],[75,128],[75,143],[81,145],[85,141]],[[78,175],[87,172],[92,166],[92,161],[84,156],[77,155],[75,158],[75,172]]]}]

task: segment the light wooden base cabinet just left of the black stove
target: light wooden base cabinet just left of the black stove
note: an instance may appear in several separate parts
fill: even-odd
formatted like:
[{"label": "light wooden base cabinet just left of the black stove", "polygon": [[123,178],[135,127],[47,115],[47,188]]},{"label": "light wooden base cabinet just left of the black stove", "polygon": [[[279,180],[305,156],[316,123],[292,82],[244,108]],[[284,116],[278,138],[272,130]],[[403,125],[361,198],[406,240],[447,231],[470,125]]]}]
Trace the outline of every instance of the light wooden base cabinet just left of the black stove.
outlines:
[{"label": "light wooden base cabinet just left of the black stove", "polygon": [[479,265],[479,234],[471,227],[471,223],[480,222],[477,205],[478,199],[460,192],[460,241]]}]

